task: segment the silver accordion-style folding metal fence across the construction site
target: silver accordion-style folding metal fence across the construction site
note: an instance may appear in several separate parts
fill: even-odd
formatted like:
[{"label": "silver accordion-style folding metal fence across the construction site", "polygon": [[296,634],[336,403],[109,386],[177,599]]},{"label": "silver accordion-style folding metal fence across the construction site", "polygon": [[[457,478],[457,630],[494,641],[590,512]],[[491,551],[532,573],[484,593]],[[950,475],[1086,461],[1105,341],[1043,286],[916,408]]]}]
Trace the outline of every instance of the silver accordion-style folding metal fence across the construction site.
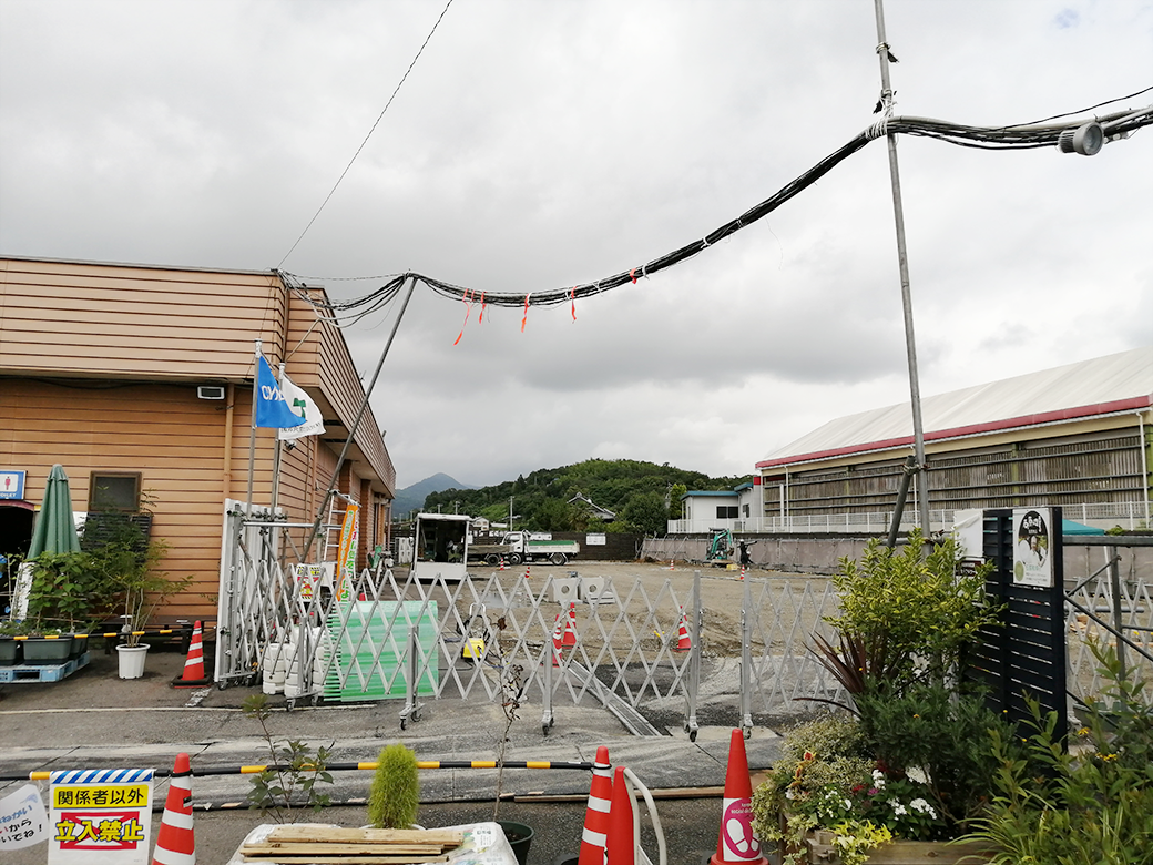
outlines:
[{"label": "silver accordion-style folding metal fence across the construction site", "polygon": [[[1145,552],[1094,547],[1083,571],[1067,566],[1071,699],[1102,687],[1091,640],[1118,646],[1129,674],[1150,678]],[[809,649],[815,635],[834,637],[826,619],[838,611],[831,581],[819,576],[698,569],[655,579],[649,569],[643,578],[589,570],[528,579],[520,570],[417,582],[382,566],[306,594],[292,569],[266,557],[236,562],[221,586],[216,680],[282,692],[288,708],[395,700],[404,729],[424,700],[451,698],[522,714],[540,707],[548,734],[565,707],[603,706],[633,732],[660,735],[673,717],[695,737],[706,704],[725,723],[736,709],[751,730],[811,713],[812,700],[843,699]],[[715,580],[741,582],[739,608],[710,606]]]}]

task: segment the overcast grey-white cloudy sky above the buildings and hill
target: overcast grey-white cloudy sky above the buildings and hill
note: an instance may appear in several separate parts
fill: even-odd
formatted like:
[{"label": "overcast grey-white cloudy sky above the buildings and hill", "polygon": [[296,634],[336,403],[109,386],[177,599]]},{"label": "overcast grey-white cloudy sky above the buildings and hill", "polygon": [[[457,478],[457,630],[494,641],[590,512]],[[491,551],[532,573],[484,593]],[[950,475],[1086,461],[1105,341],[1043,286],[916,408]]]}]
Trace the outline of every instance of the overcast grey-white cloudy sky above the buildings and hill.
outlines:
[{"label": "overcast grey-white cloudy sky above the buildings and hill", "polygon": [[[443,9],[0,0],[0,253],[280,266],[334,298],[409,270],[556,289],[736,218],[880,90],[868,0],[453,0],[382,118]],[[1153,85],[1144,0],[888,0],[886,24],[898,114],[1024,123]],[[924,394],[1153,343],[1153,129],[899,159]],[[417,289],[372,401],[398,486],[590,457],[741,474],[906,400],[883,140],[575,311],[474,309],[454,346],[464,306]],[[362,370],[394,314],[346,332]]]}]

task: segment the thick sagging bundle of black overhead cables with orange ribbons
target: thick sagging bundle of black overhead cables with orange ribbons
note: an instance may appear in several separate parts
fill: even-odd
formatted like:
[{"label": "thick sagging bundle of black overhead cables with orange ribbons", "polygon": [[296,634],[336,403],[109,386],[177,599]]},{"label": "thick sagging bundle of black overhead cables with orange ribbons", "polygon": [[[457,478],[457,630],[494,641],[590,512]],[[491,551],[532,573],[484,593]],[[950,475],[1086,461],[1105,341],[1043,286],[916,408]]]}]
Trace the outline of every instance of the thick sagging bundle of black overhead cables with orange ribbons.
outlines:
[{"label": "thick sagging bundle of black overhead cables with orange ribbons", "polygon": [[[1153,90],[1153,88],[1138,91],[1138,93],[1144,93],[1148,90]],[[1110,99],[1106,103],[1101,103],[1101,105],[1108,105],[1115,101],[1118,100]],[[364,315],[368,315],[369,313],[375,311],[376,309],[379,309],[384,304],[389,303],[399,293],[400,287],[404,285],[406,279],[423,283],[437,294],[453,300],[475,300],[482,304],[496,307],[523,307],[527,309],[528,307],[547,307],[555,306],[557,303],[575,302],[582,298],[602,294],[623,285],[635,284],[641,277],[650,277],[654,273],[666,270],[676,264],[680,264],[681,262],[692,258],[714,243],[736,234],[741,228],[747,228],[753,223],[768,216],[801,190],[811,187],[817,180],[823,178],[850,156],[861,150],[871,141],[877,137],[884,137],[889,133],[937,138],[950,144],[967,148],[982,148],[987,150],[1030,150],[1055,146],[1062,133],[1076,129],[1083,122],[1085,121],[1053,125],[1027,123],[1009,127],[980,127],[952,123],[945,120],[934,120],[932,118],[883,118],[865,131],[850,140],[846,144],[835,150],[812,168],[800,174],[790,183],[786,183],[774,195],[769,196],[760,204],[753,205],[736,219],[715,228],[700,240],[685,243],[671,253],[653,258],[649,262],[591,283],[551,289],[534,288],[523,292],[489,292],[454,285],[422,273],[406,272],[385,277],[386,281],[379,288],[361,298],[355,298],[348,301],[329,301],[327,303],[321,303],[316,299],[309,296],[306,292],[301,291],[300,294],[307,302],[316,307],[322,307],[324,314],[330,316],[333,321],[339,322],[341,325],[360,321]],[[1146,126],[1153,126],[1153,105],[1148,105],[1136,111],[1120,111],[1113,114],[1103,115],[1097,118],[1097,122],[1103,127],[1106,135],[1109,138],[1124,137],[1137,129]],[[286,271],[279,272],[286,285],[296,289],[303,288],[303,277],[292,274]],[[316,277],[314,277],[314,279],[316,279]]]}]

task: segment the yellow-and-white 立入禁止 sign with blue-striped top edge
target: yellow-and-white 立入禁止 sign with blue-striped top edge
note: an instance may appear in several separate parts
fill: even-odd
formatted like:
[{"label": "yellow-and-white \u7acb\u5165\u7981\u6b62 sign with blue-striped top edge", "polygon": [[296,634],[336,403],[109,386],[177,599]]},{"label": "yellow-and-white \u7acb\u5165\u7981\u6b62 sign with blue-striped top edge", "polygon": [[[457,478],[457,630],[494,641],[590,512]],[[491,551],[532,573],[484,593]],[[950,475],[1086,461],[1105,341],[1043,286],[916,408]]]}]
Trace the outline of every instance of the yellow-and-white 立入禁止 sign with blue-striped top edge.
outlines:
[{"label": "yellow-and-white \u7acb\u5165\u7981\u6b62 sign with blue-striped top edge", "polygon": [[48,865],[149,865],[152,774],[53,772]]}]

